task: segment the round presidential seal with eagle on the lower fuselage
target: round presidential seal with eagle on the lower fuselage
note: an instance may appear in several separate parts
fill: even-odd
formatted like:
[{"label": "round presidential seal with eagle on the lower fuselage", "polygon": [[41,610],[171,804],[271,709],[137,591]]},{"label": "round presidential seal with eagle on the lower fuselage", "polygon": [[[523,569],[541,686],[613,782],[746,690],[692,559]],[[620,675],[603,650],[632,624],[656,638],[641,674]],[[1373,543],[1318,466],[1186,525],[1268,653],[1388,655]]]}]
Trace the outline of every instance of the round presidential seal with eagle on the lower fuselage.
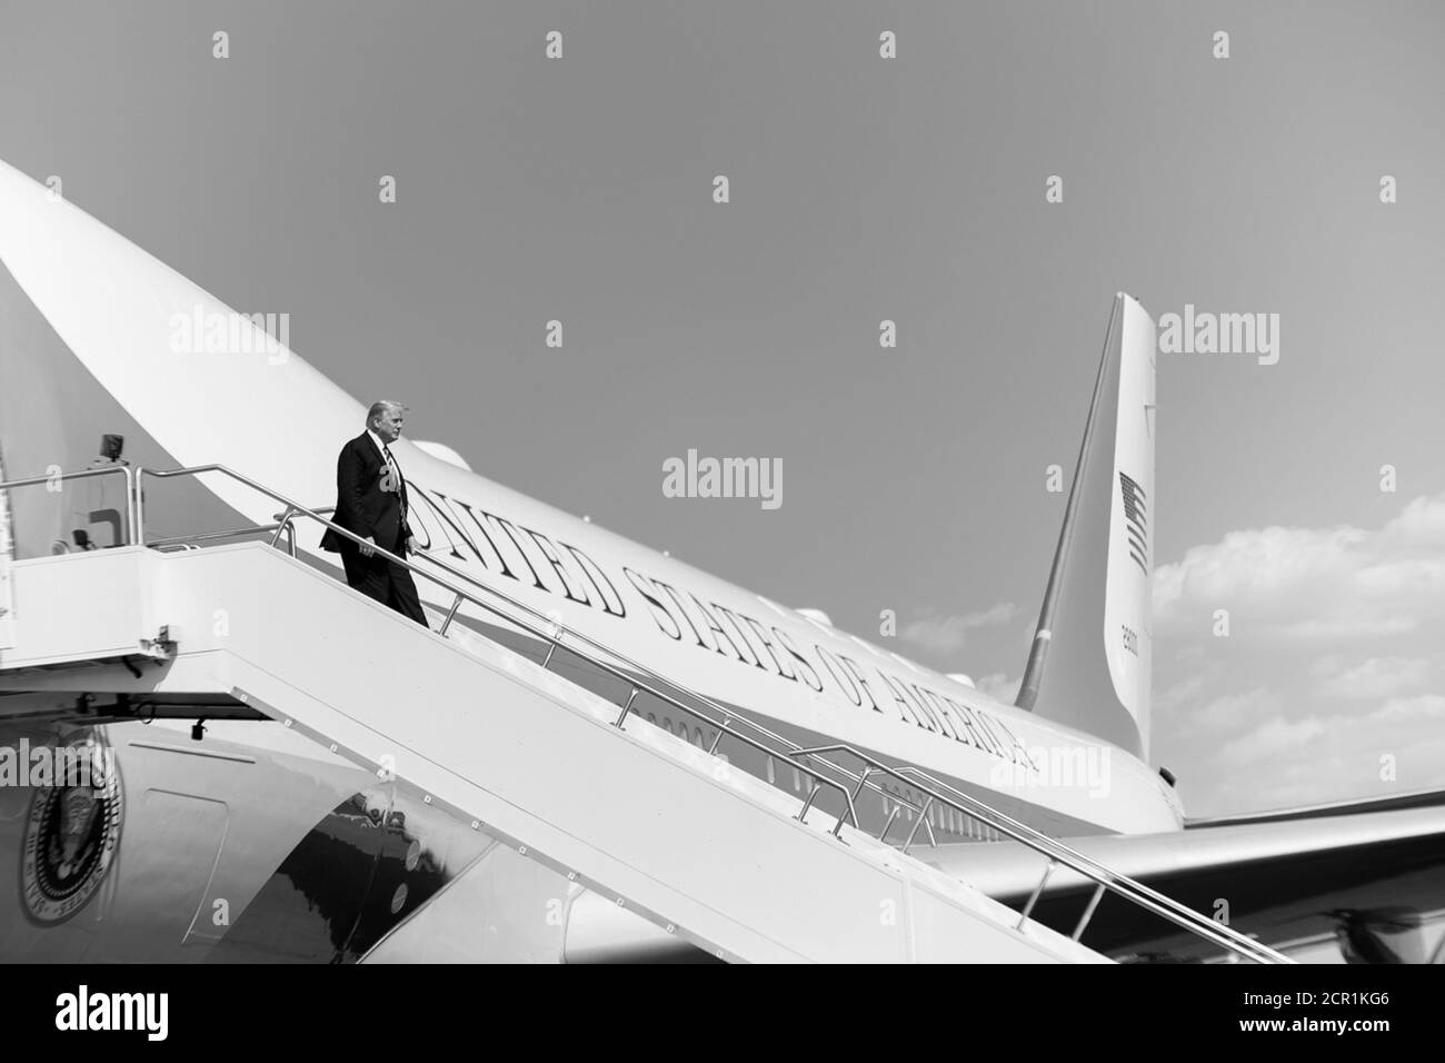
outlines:
[{"label": "round presidential seal with eagle on the lower fuselage", "polygon": [[22,845],[20,897],[26,917],[40,924],[64,923],[84,908],[120,845],[120,772],[111,751],[90,736],[58,743],[56,752],[79,769],[35,788]]}]

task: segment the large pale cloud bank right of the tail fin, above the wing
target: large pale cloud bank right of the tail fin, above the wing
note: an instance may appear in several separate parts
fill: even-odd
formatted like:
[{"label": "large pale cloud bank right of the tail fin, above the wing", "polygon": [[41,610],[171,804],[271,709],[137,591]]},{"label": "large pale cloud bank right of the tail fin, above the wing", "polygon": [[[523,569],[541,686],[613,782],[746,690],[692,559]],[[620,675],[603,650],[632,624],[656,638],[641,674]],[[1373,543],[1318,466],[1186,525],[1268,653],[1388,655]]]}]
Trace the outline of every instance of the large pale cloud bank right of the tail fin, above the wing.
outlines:
[{"label": "large pale cloud bank right of the tail fin, above the wing", "polygon": [[1445,785],[1445,495],[1194,547],[1156,573],[1153,631],[1152,755],[1191,816]]}]

